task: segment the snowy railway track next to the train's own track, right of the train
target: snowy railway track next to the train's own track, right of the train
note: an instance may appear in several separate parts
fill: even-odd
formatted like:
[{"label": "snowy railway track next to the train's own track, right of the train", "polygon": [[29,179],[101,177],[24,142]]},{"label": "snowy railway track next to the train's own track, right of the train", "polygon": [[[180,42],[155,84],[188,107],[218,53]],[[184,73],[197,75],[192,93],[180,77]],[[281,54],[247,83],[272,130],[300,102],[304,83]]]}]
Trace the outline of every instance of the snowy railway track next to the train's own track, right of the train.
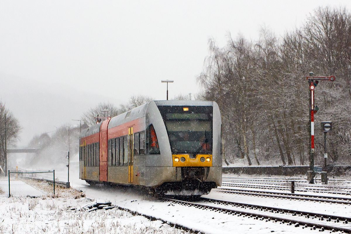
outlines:
[{"label": "snowy railway track next to the train's own track, right of the train", "polygon": [[298,193],[279,193],[279,192],[271,192],[271,191],[257,191],[257,190],[233,189],[233,188],[217,188],[217,191],[221,193],[236,193],[236,194],[253,195],[253,196],[266,196],[266,197],[272,197],[272,198],[297,199],[297,200],[327,202],[327,203],[330,202],[330,203],[351,205],[351,198],[343,198],[343,197],[298,194]]}]

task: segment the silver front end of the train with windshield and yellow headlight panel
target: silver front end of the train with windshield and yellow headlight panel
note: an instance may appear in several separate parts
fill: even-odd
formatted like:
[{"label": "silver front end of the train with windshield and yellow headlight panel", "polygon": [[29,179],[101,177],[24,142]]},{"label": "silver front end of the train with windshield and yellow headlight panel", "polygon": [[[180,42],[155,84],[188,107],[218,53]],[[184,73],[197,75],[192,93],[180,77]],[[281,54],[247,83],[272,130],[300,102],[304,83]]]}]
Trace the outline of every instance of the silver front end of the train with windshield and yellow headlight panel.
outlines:
[{"label": "silver front end of the train with windshield and yellow headlight panel", "polygon": [[[216,102],[155,101],[149,148],[159,148],[158,193],[203,195],[221,185],[221,118]],[[161,118],[160,118],[161,117]],[[150,152],[153,153],[152,151]],[[156,155],[156,154],[155,154]]]}]

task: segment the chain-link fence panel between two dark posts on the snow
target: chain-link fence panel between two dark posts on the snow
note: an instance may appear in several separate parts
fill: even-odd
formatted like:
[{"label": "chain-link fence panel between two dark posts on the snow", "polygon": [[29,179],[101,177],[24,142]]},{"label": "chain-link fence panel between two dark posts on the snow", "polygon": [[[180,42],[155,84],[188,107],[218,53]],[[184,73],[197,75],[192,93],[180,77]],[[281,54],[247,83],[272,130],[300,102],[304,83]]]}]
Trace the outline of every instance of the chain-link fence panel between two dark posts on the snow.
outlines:
[{"label": "chain-link fence panel between two dark posts on the snow", "polygon": [[8,196],[40,197],[43,195],[55,195],[55,170],[8,171]]}]

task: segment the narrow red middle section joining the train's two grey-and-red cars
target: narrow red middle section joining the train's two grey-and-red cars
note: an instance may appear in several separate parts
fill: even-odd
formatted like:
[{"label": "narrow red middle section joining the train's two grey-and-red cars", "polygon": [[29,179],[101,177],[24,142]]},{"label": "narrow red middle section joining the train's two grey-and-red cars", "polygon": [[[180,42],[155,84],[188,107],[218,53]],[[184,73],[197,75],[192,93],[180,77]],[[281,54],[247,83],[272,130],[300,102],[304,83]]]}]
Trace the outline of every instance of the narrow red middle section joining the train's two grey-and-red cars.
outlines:
[{"label": "narrow red middle section joining the train's two grey-and-red cars", "polygon": [[107,181],[107,126],[110,118],[101,123],[99,132],[99,180]]}]

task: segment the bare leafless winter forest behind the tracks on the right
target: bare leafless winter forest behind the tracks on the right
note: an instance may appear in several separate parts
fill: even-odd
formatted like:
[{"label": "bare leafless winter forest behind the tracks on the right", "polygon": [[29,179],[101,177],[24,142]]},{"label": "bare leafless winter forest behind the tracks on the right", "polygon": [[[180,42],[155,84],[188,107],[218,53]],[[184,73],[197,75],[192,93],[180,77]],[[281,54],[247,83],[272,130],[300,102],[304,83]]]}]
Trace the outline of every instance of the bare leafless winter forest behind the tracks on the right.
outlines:
[{"label": "bare leafless winter forest behind the tracks on the right", "polygon": [[249,41],[228,35],[227,45],[209,40],[197,81],[202,99],[222,115],[225,161],[245,165],[309,164],[309,83],[306,76],[335,76],[315,89],[315,164],[324,160],[320,122],[327,134],[328,164],[351,159],[351,15],[345,8],[317,8],[303,26],[277,37],[261,28]]}]

